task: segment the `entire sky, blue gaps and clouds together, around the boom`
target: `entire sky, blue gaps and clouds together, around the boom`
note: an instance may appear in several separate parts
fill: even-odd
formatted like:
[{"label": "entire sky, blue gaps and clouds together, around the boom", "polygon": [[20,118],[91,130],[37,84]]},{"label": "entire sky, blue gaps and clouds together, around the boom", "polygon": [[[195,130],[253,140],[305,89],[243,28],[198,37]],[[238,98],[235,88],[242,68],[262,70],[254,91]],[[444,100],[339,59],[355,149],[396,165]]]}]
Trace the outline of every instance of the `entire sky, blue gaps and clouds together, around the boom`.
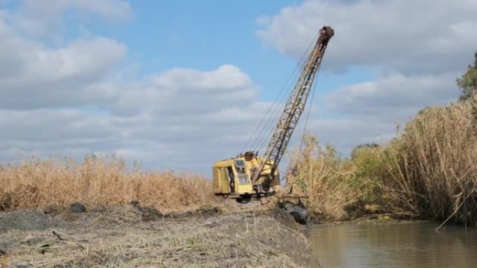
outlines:
[{"label": "entire sky, blue gaps and clouds together, around the boom", "polygon": [[208,175],[324,25],[335,37],[308,132],[346,157],[456,99],[476,12],[474,0],[0,0],[0,161],[93,152]]}]

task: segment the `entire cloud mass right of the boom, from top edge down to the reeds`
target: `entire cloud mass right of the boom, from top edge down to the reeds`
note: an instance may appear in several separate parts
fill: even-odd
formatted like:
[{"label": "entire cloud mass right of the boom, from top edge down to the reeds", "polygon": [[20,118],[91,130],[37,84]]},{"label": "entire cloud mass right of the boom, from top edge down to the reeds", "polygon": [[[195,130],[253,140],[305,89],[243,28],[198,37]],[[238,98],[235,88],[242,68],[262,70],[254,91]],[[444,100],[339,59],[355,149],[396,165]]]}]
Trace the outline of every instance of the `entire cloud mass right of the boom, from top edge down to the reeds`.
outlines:
[{"label": "entire cloud mass right of the boom, from top edge down to the reeds", "polygon": [[345,76],[354,66],[377,74],[324,96],[324,121],[314,132],[349,152],[358,143],[385,141],[393,122],[427,105],[456,99],[455,77],[477,48],[476,13],[471,0],[305,0],[257,19],[256,34],[298,58],[319,28],[331,25],[335,36],[321,70]]}]

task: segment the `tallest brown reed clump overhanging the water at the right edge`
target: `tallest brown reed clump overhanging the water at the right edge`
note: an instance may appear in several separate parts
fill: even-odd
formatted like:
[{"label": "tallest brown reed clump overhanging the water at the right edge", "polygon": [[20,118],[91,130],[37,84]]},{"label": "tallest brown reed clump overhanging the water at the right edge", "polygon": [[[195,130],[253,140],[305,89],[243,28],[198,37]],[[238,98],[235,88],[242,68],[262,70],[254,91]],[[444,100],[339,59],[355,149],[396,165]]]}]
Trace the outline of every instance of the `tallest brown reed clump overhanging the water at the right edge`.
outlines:
[{"label": "tallest brown reed clump overhanging the water at the right edge", "polygon": [[423,109],[389,147],[388,171],[409,207],[477,224],[477,97]]}]

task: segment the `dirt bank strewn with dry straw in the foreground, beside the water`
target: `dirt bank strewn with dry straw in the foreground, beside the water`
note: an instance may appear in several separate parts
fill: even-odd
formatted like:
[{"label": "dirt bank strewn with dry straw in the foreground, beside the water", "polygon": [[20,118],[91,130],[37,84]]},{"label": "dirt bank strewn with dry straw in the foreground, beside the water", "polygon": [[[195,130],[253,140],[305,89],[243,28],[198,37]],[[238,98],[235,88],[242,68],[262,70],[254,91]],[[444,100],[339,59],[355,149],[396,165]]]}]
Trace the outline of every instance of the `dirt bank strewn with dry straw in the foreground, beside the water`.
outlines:
[{"label": "dirt bank strewn with dry straw in the foreground, beside the water", "polygon": [[0,250],[0,267],[319,267],[303,227],[278,210],[6,212]]}]

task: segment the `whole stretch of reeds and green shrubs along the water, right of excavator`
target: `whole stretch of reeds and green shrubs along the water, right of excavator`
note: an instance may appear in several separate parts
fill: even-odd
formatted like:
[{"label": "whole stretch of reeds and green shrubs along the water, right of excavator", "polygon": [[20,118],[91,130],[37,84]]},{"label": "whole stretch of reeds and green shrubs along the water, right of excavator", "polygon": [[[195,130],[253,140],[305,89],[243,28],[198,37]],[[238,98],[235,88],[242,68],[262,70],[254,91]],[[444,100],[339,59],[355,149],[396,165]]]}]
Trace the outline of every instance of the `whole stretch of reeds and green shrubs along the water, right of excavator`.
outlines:
[{"label": "whole stretch of reeds and green shrubs along the water, right of excavator", "polygon": [[347,159],[308,137],[289,182],[324,219],[393,214],[477,225],[477,97],[427,107],[387,145]]}]

